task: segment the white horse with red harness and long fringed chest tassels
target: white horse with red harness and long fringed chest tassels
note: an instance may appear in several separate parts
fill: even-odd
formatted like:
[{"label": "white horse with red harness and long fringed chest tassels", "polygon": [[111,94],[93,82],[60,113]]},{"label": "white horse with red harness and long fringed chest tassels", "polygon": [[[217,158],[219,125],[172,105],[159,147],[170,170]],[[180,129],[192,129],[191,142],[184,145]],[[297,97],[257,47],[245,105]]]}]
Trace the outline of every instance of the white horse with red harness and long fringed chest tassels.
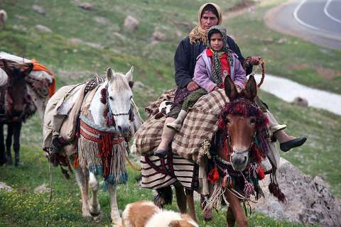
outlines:
[{"label": "white horse with red harness and long fringed chest tassels", "polygon": [[[96,176],[104,176],[108,167],[103,163],[109,163],[109,175],[104,177],[104,184],[110,196],[111,218],[114,226],[121,224],[117,207],[117,184],[126,181],[126,178],[124,179],[126,177],[125,152],[128,149],[126,138],[134,135],[141,126],[141,118],[132,100],[133,70],[134,67],[131,67],[129,72],[121,74],[109,68],[107,79],[97,88],[90,105],[87,104],[89,106],[87,114],[82,115],[84,113],[81,111],[80,116],[80,138],[77,150],[80,167],[75,168],[75,175],[82,196],[82,216],[92,218],[99,215],[100,206],[97,197],[99,182]],[[83,105],[85,104],[86,101],[83,101]],[[88,139],[84,131],[95,139]],[[75,153],[75,145],[66,145],[63,150],[67,154]],[[109,162],[103,161],[105,155]],[[91,198],[89,188],[92,191]]]}]

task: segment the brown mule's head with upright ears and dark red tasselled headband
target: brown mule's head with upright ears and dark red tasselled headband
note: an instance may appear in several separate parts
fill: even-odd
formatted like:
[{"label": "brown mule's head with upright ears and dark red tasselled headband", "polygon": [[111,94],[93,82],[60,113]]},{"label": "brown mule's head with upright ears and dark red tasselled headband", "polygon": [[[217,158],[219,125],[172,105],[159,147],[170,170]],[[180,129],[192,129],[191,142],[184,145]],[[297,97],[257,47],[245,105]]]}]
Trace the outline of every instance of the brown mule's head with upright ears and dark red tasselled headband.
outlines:
[{"label": "brown mule's head with upright ears and dark red tasselled headband", "polygon": [[251,150],[253,152],[254,142],[261,136],[259,134],[266,127],[268,120],[254,102],[257,87],[253,76],[249,77],[245,89],[241,92],[237,92],[232,80],[226,77],[224,89],[229,103],[220,114],[219,126],[227,139],[232,167],[242,171],[247,167],[249,158],[254,159]]}]

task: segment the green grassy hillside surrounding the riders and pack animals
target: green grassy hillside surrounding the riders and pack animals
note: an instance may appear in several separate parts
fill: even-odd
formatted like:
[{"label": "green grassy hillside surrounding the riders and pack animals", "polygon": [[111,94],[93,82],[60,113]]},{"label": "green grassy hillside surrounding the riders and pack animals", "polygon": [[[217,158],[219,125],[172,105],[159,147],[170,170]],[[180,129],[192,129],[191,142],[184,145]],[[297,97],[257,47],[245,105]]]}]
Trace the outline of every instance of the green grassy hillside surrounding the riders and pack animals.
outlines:
[{"label": "green grassy hillside surrounding the riders and pack animals", "polygon": [[[242,0],[216,1],[224,12]],[[94,72],[107,67],[126,72],[134,65],[136,104],[143,110],[148,101],[174,87],[173,53],[178,42],[193,28],[196,11],[205,1],[95,1],[92,11],[80,9],[84,1],[2,0],[0,9],[9,13],[6,28],[0,31],[0,51],[36,58],[53,70],[58,87],[89,79]],[[269,1],[268,1],[269,2]],[[45,9],[45,16],[33,11],[33,4]],[[277,4],[271,1],[271,4]],[[229,18],[228,31],[234,36],[244,55],[261,55],[268,72],[296,80],[311,87],[341,93],[341,52],[320,48],[288,35],[270,31],[262,16],[269,5],[256,7],[252,20],[244,13]],[[136,31],[124,30],[124,18],[135,16],[140,24]],[[98,17],[106,23],[99,23]],[[194,23],[193,23],[194,22]],[[48,26],[53,33],[38,33],[35,26]],[[163,41],[152,42],[152,34],[166,35]],[[283,39],[284,38],[284,39]],[[82,40],[82,41],[80,41]],[[315,57],[318,56],[318,57]],[[333,77],[327,77],[332,73]],[[341,136],[341,118],[313,108],[291,106],[261,92],[271,111],[288,124],[292,135],[308,135],[307,143],[283,156],[309,175],[320,175],[341,196],[340,170],[336,146]],[[143,114],[143,113],[141,113]],[[104,226],[109,225],[109,199],[100,194],[104,216],[99,223],[81,216],[80,194],[74,177],[63,179],[58,168],[53,170],[54,199],[48,194],[33,194],[33,189],[48,183],[48,165],[40,150],[40,119],[35,116],[23,127],[22,162],[17,169],[0,167],[0,182],[16,189],[0,193],[0,226]],[[139,189],[134,181],[138,173],[130,170],[127,187],[119,189],[119,208],[139,199],[151,199],[151,191]],[[129,192],[129,193],[127,193]],[[170,207],[175,209],[173,205]],[[199,209],[197,209],[199,210]],[[224,226],[224,211],[213,223],[200,226]],[[266,218],[250,217],[251,226],[300,226]]]}]

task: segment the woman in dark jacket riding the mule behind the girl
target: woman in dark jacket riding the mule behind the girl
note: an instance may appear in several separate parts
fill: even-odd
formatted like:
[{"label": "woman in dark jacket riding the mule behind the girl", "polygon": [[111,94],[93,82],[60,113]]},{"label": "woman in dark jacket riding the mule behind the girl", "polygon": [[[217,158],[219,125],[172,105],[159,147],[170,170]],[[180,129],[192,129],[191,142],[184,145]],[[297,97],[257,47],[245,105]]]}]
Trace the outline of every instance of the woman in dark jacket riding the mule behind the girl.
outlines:
[{"label": "woman in dark jacket riding the mule behind the girl", "polygon": [[[188,94],[199,88],[199,85],[193,81],[195,63],[197,56],[206,48],[206,36],[208,29],[222,23],[222,11],[220,10],[220,6],[212,3],[202,5],[197,13],[197,20],[197,26],[193,28],[188,37],[181,40],[175,52],[175,83],[178,85],[178,89],[175,92],[175,101],[171,107],[171,111],[167,115],[165,125],[163,127],[161,143],[154,152],[154,155],[159,157],[164,157],[167,154],[168,145],[171,143],[171,140],[176,133],[173,129],[168,128],[167,124],[172,123],[175,121],[175,118],[178,117],[183,101]],[[247,74],[251,73],[252,65],[259,65],[261,57],[247,57],[247,60],[245,60],[238,45],[234,43],[234,40],[228,35],[226,43],[229,48],[237,54],[242,65],[247,65]],[[273,131],[275,137],[281,143],[281,150],[286,152],[291,148],[301,146],[305,142],[305,137],[294,138],[293,136],[287,135],[283,131],[283,129],[286,128],[286,125],[279,125],[269,111],[268,114],[271,120],[271,131]]]}]

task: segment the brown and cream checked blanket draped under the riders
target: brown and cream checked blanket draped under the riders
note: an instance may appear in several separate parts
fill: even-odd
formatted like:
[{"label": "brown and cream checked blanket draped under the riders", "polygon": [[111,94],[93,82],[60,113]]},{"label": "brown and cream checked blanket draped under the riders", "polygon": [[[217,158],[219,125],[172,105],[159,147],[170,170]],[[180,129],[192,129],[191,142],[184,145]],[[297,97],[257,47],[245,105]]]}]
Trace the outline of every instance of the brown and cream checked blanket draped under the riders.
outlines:
[{"label": "brown and cream checked blanket draped under the riders", "polygon": [[[153,109],[158,108],[158,104],[165,100],[165,94],[173,101],[174,95],[169,94],[170,92],[174,90],[165,92],[146,107],[147,114],[151,115],[135,135],[136,150],[141,155],[151,155],[161,142],[166,116],[156,118],[153,115],[156,111]],[[218,128],[218,116],[228,102],[223,89],[202,96],[188,111],[180,132],[175,134],[171,144],[173,153],[200,164],[202,157],[209,153],[210,141]]]}]

